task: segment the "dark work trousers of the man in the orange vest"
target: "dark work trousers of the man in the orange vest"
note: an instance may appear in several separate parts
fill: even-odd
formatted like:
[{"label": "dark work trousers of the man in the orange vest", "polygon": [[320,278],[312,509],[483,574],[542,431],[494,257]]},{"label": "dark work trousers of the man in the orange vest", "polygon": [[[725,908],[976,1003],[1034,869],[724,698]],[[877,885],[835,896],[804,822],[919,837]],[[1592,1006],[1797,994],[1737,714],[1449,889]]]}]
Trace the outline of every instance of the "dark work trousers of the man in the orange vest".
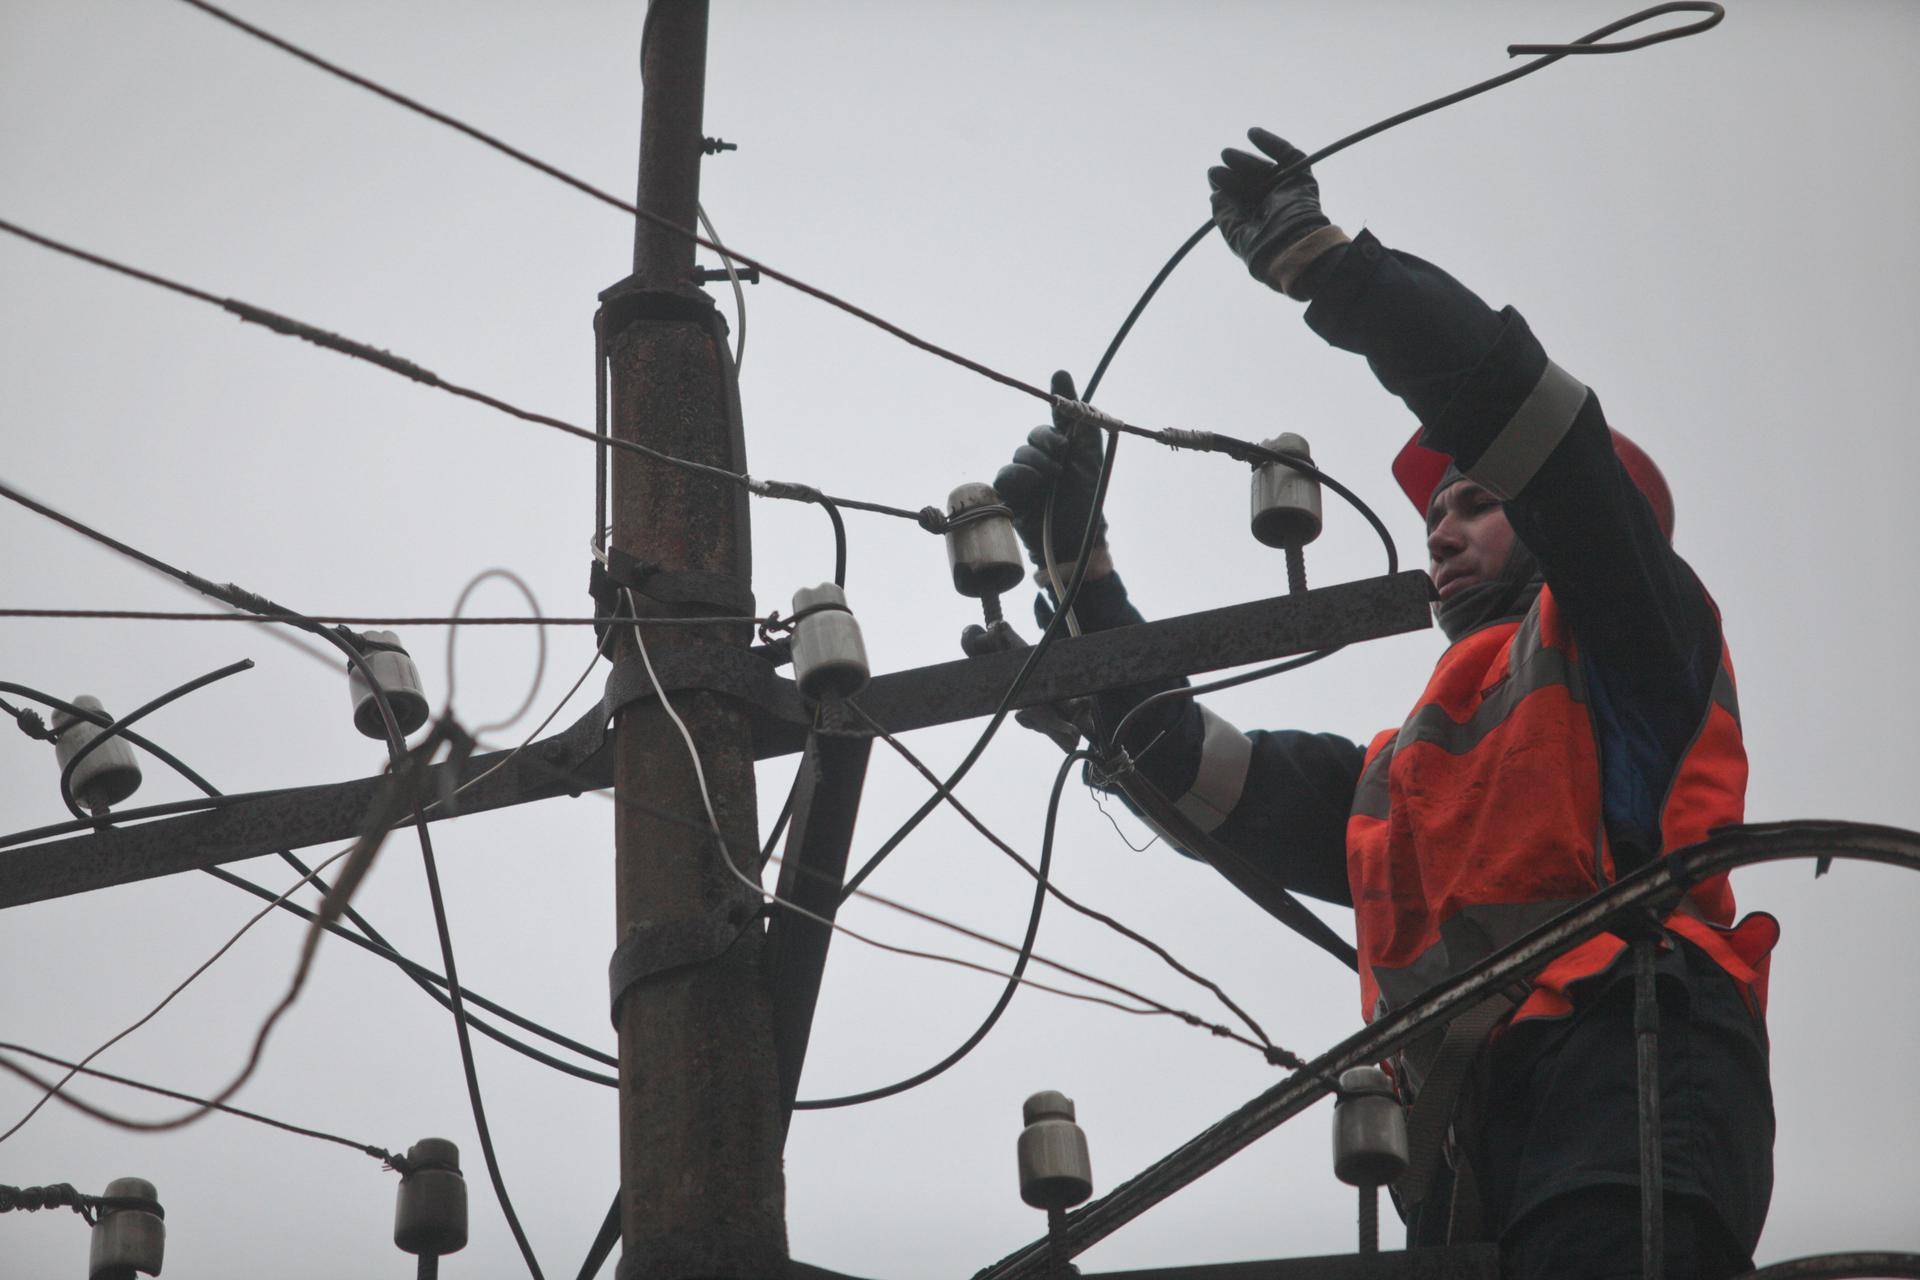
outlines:
[{"label": "dark work trousers of the man in the orange vest", "polygon": [[[1766,1031],[1726,973],[1674,938],[1659,958],[1665,1276],[1718,1280],[1753,1267],[1772,1197],[1774,1107]],[[1494,1042],[1475,1173],[1482,1238],[1507,1280],[1640,1274],[1634,981],[1622,956],[1574,992],[1565,1019],[1528,1019]],[[1444,1171],[1442,1171],[1444,1173]],[[1409,1224],[1446,1240],[1446,1178]]]}]

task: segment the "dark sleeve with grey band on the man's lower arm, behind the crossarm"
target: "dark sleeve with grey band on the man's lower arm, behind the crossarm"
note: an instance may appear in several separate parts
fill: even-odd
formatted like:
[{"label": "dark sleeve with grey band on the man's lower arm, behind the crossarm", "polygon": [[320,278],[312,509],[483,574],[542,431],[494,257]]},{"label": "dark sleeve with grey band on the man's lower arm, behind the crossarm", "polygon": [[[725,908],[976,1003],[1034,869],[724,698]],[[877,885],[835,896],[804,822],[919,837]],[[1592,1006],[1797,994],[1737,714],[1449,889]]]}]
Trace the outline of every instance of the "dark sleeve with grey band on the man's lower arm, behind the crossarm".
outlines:
[{"label": "dark sleeve with grey band on the man's lower arm, behind the crossarm", "polygon": [[[1117,574],[1087,583],[1075,614],[1089,631],[1142,620]],[[1185,683],[1102,693],[1102,731],[1112,733],[1148,695]],[[1269,867],[1286,889],[1352,906],[1346,818],[1365,754],[1357,743],[1290,729],[1242,733],[1192,699],[1169,699],[1127,722],[1121,747],[1146,781],[1215,841]]]}]

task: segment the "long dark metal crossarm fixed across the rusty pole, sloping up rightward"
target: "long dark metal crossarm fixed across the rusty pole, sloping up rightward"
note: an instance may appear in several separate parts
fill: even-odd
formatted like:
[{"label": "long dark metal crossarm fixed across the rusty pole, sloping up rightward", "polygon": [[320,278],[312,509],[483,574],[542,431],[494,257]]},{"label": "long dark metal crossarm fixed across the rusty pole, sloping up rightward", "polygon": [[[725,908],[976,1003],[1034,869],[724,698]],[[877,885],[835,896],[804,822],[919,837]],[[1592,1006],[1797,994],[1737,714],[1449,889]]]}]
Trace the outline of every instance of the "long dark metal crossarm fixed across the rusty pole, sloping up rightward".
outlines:
[{"label": "long dark metal crossarm fixed across the rusty pole, sloping up rightward", "polygon": [[[1016,706],[1419,631],[1432,624],[1430,591],[1427,574],[1405,572],[1062,637],[1033,672]],[[893,672],[876,677],[860,695],[860,704],[893,733],[973,720],[998,706],[1021,662],[1023,654],[1006,652]],[[599,708],[568,729],[532,743],[511,762],[509,752],[468,760],[449,781],[507,764],[463,793],[455,806],[428,810],[428,821],[612,785],[607,722],[620,708],[653,697],[651,681],[636,668],[614,668]],[[756,758],[793,754],[806,745],[812,708],[766,658],[743,649],[689,647],[659,652],[655,668],[670,695],[708,689],[751,704]],[[831,735],[868,735],[864,723],[835,708],[824,708],[820,727]],[[440,781],[432,779],[430,787]],[[376,789],[378,779],[361,777],[238,794],[209,812],[0,850],[0,908],[196,871],[280,848],[349,841],[359,835]]]}]

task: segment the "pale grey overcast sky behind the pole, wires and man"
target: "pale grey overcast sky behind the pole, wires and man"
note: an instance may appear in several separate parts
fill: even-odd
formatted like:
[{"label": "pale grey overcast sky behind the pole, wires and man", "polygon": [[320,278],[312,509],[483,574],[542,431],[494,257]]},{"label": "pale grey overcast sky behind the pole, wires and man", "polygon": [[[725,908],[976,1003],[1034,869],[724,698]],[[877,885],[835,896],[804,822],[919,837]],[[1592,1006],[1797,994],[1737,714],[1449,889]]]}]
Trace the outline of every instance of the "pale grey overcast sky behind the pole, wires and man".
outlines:
[{"label": "pale grey overcast sky behind the pole, wires and man", "polygon": [[[970,355],[1043,382],[1085,376],[1164,257],[1206,215],[1204,169],[1252,123],[1304,146],[1492,75],[1511,40],[1572,38],[1626,12],[1594,4],[716,4],[707,130],[741,144],[703,194],[741,249]],[[1321,169],[1350,230],[1438,261],[1521,307],[1553,357],[1665,466],[1678,545],[1718,601],[1753,760],[1749,818],[1920,827],[1903,651],[1920,622],[1903,568],[1920,520],[1912,301],[1920,184],[1908,52],[1920,8],[1736,0],[1695,40],[1567,61],[1356,148]],[[632,190],[641,4],[330,6],[246,0],[244,15]],[[0,4],[0,217],[380,347],[505,399],[591,420],[595,294],[626,274],[632,228],[472,142],[159,0]],[[1035,405],[776,284],[749,290],[741,395],[755,474],[904,507],[987,480]],[[732,303],[724,299],[730,311]],[[1148,311],[1102,390],[1129,420],[1238,436],[1306,434],[1421,562],[1419,520],[1386,476],[1411,428],[1365,367],[1325,349],[1292,303],[1208,242]],[[445,612],[478,570],[522,574],[549,612],[586,612],[591,449],[209,307],[0,242],[0,413],[13,486],[215,580],[323,612]],[[1129,443],[1112,545],[1154,616],[1283,589],[1244,526],[1244,468]],[[756,503],[756,593],[785,606],[829,576],[816,510]],[[975,618],[920,530],[849,514],[849,597],[877,670],[958,656]],[[12,505],[4,599],[194,608],[144,570]],[[1380,572],[1379,543],[1329,499],[1315,583]],[[482,612],[518,597],[484,587]],[[1025,622],[1025,604],[1010,610]],[[1031,629],[1031,628],[1029,628]],[[405,637],[430,695],[442,631]],[[591,643],[551,635],[541,710]],[[1242,727],[1365,737],[1398,723],[1436,633],[1352,649],[1215,706]],[[259,666],[144,727],[228,791],[365,775],[344,679],[240,626],[10,622],[0,679],[125,712],[240,656]],[[468,635],[459,714],[518,704],[522,631]],[[563,712],[570,722],[599,676]],[[530,725],[530,722],[524,722]],[[912,735],[952,766],[977,725]],[[1008,729],[962,787],[1037,850],[1056,750]],[[760,771],[770,819],[791,760]],[[52,750],[0,735],[0,827],[63,818]],[[136,802],[190,794],[148,764]],[[876,754],[864,856],[924,796]],[[1219,979],[1283,1044],[1357,1027],[1352,979],[1208,869],[1129,850],[1068,794],[1062,887]],[[1108,804],[1135,844],[1139,823]],[[436,829],[463,979],[612,1048],[612,806],[553,800]],[[278,860],[236,867],[284,887]],[[874,887],[1018,936],[1027,881],[947,814]],[[1841,864],[1736,875],[1741,908],[1784,925],[1772,981],[1780,1117],[1763,1259],[1920,1247],[1920,1052],[1910,973],[1920,885]],[[394,841],[357,906],[432,958],[419,856]],[[146,1011],[250,913],[204,875],[8,913],[6,1038],[84,1054]],[[1346,913],[1331,912],[1342,929]],[[849,923],[966,950],[858,904]],[[290,973],[300,929],[269,919],[144,1031],[100,1059],[213,1090]],[[1041,950],[1213,1013],[1206,994],[1068,915]],[[438,963],[438,961],[436,961]],[[979,975],[833,946],[803,1094],[889,1082],[947,1054],[995,996]],[[549,1274],[572,1274],[616,1182],[614,1100],[478,1042],[509,1188]],[[1041,1219],[1014,1186],[1020,1102],[1081,1107],[1096,1190],[1265,1088],[1258,1055],[1171,1019],[1023,992],[958,1069],[902,1098],[801,1115],[787,1148],[795,1257],[854,1274],[970,1274]],[[125,1090],[84,1096],[171,1113]],[[0,1126],[31,1094],[0,1080]],[[445,1274],[511,1276],[453,1029],[396,971],[323,948],[307,994],[238,1098],[296,1123],[403,1148],[455,1138],[472,1244]],[[1327,1109],[1284,1126],[1104,1242],[1087,1268],[1352,1247],[1352,1192],[1327,1159]],[[351,1151],[213,1117],[136,1136],[61,1107],[0,1146],[0,1182],[98,1190],[138,1174],[167,1205],[167,1272],[407,1274],[390,1242],[394,1176]],[[1398,1240],[1398,1228],[1390,1228]],[[84,1265],[71,1215],[0,1221],[0,1274]]]}]

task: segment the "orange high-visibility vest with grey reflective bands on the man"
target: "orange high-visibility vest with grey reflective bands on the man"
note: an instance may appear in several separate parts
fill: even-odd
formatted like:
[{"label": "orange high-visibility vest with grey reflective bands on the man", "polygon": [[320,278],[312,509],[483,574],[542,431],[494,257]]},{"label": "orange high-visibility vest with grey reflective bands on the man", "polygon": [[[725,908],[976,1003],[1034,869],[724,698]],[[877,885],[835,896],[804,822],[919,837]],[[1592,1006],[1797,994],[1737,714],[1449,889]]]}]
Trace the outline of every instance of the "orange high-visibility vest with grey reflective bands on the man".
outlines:
[{"label": "orange high-visibility vest with grey reflective bands on the man", "polygon": [[[1722,643],[1705,723],[1661,806],[1661,852],[1741,821],[1745,791],[1740,704]],[[1407,722],[1373,739],[1346,858],[1369,1021],[1615,879],[1586,679],[1551,587],[1524,618],[1461,637]],[[1699,883],[1667,927],[1764,1009],[1766,958],[1780,927],[1764,913],[1734,927],[1724,873]],[[1603,933],[1549,961],[1515,1021],[1571,1013],[1569,988],[1607,971],[1624,946]]]}]

